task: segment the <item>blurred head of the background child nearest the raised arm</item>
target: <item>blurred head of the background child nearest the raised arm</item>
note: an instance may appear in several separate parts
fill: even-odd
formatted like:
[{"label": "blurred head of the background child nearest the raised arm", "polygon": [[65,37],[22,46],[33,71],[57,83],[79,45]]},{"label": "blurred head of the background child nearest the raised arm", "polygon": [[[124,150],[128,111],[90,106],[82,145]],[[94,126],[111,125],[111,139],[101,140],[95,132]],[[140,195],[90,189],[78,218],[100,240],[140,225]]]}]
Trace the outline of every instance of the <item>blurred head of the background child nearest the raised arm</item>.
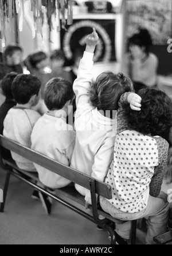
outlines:
[{"label": "blurred head of the background child nearest the raised arm", "polygon": [[58,69],[59,67],[64,67],[65,55],[62,50],[54,50],[50,55],[50,60],[52,63],[52,69]]}]

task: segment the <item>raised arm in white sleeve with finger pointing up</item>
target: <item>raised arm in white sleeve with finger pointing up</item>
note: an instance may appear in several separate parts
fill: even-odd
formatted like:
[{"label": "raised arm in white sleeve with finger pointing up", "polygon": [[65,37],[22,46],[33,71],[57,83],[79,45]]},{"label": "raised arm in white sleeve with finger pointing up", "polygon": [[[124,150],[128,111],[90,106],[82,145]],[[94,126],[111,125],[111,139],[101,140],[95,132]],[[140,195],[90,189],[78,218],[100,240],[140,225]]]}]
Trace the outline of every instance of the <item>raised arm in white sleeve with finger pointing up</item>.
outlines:
[{"label": "raised arm in white sleeve with finger pointing up", "polygon": [[86,50],[83,59],[81,59],[78,76],[73,84],[73,91],[76,95],[77,110],[89,106],[89,91],[93,78],[93,55],[99,36],[93,28],[93,33],[85,39]]}]

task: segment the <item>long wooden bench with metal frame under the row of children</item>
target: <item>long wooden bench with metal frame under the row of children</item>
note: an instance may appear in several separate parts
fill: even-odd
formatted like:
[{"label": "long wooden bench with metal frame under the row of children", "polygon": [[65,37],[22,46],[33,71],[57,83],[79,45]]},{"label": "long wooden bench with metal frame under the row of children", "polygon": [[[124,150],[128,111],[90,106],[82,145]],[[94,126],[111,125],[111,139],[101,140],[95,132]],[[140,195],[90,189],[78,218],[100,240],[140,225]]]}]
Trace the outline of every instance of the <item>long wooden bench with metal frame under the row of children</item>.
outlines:
[{"label": "long wooden bench with metal frame under the row of children", "polygon": [[[71,182],[76,183],[85,189],[91,191],[91,199],[92,199],[92,213],[91,211],[83,210],[81,206],[85,205],[85,200],[82,195],[80,195],[76,190],[75,187],[69,186],[65,187],[64,189],[58,189],[57,195],[49,193],[48,189],[42,189],[40,186],[37,185],[38,175],[32,174],[30,172],[26,172],[20,170],[14,161],[10,161],[9,159],[2,158],[3,150],[8,149],[12,152],[25,157],[26,159],[32,161],[33,163],[37,163],[42,167],[48,169],[49,171],[54,172],[55,174],[61,175],[64,178],[71,180]],[[115,231],[112,228],[112,222],[122,224],[124,221],[120,221],[114,219],[108,213],[105,213],[100,206],[97,206],[97,198],[96,194],[101,197],[112,199],[112,189],[111,186],[99,182],[98,180],[93,179],[91,176],[84,175],[83,173],[73,170],[65,165],[57,163],[48,157],[41,155],[38,152],[35,152],[25,146],[19,145],[18,143],[8,140],[7,138],[0,135],[0,164],[3,170],[7,172],[6,180],[5,180],[5,187],[3,190],[3,203],[1,204],[0,212],[2,213],[5,208],[7,190],[9,187],[10,176],[13,175],[16,178],[24,181],[28,185],[34,187],[41,191],[42,193],[48,195],[49,197],[53,198],[54,200],[60,202],[62,205],[67,206],[69,209],[73,210],[74,212],[80,214],[81,216],[85,217],[86,219],[92,221],[93,223],[99,225],[103,229],[109,232],[111,235],[111,244],[116,244],[116,235]],[[73,205],[73,202],[77,203],[77,206]],[[104,220],[99,219],[99,214],[104,216]],[[131,230],[131,244],[135,244],[136,240],[136,225],[137,221],[132,221],[132,230]]]}]

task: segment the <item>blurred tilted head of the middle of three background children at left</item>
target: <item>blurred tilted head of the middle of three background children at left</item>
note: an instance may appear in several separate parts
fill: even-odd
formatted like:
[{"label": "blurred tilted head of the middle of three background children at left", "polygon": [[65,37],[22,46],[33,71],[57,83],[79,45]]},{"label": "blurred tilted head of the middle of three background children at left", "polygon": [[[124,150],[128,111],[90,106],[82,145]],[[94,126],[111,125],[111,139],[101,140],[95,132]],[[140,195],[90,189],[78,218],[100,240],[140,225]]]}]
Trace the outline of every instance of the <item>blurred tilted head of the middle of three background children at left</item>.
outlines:
[{"label": "blurred tilted head of the middle of three background children at left", "polygon": [[48,57],[43,51],[38,51],[34,54],[31,54],[29,61],[34,69],[44,69],[46,66],[48,66]]}]

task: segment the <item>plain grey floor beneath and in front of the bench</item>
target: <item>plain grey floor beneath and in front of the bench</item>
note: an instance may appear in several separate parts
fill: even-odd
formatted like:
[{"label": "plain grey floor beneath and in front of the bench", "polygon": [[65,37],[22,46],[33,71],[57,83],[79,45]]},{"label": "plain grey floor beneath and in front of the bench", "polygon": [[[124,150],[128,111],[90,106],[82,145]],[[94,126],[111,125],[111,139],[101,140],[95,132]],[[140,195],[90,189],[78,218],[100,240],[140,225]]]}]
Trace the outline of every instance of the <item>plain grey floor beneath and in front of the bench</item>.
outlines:
[{"label": "plain grey floor beneath and in front of the bench", "polygon": [[[5,172],[0,170],[0,189]],[[5,213],[0,215],[0,244],[110,244],[105,231],[78,214],[54,202],[47,216],[41,202],[31,198],[32,187],[12,177]],[[145,235],[138,231],[137,244]]]}]

